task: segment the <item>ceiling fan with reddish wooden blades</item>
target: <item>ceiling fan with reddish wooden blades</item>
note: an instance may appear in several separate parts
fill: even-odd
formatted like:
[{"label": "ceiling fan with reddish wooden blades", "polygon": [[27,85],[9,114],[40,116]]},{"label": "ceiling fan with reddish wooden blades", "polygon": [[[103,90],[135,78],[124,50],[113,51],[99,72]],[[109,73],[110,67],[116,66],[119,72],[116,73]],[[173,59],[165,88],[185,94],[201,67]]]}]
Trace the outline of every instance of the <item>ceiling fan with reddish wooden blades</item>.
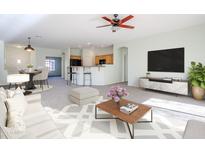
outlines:
[{"label": "ceiling fan with reddish wooden blades", "polygon": [[130,26],[130,25],[125,25],[124,23],[127,22],[128,20],[132,19],[134,16],[129,15],[123,19],[119,19],[118,18],[118,14],[114,14],[114,18],[110,19],[108,17],[102,17],[104,20],[108,21],[110,24],[108,25],[103,25],[103,26],[98,26],[96,28],[102,28],[102,27],[108,27],[108,26],[112,26],[112,32],[116,32],[118,28],[129,28],[129,29],[133,29],[135,28],[134,26]]}]

